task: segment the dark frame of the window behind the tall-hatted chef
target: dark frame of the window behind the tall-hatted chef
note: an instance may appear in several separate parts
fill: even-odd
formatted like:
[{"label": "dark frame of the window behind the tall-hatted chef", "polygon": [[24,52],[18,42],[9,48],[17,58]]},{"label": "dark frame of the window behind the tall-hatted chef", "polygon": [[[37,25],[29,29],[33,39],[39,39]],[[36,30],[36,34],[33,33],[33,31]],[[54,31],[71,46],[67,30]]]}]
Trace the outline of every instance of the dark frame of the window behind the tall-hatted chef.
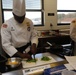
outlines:
[{"label": "dark frame of the window behind the tall-hatted chef", "polygon": [[[11,11],[12,12],[12,9],[3,9],[3,6],[2,6],[2,0],[1,0],[1,10],[2,10],[2,23],[4,23],[4,11]],[[26,11],[30,11],[30,12],[33,12],[33,11],[41,11],[41,24],[36,24],[34,26],[44,26],[44,0],[41,0],[41,9],[26,9]]]}]

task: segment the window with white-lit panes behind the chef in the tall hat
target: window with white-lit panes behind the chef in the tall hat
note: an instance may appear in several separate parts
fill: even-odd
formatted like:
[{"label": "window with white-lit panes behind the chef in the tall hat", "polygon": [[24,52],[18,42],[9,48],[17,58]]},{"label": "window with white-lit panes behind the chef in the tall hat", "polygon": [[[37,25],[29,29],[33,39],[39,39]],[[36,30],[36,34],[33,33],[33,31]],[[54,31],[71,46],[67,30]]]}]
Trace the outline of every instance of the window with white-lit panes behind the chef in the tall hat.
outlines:
[{"label": "window with white-lit panes behind the chef in the tall hat", "polygon": [[[2,0],[3,22],[11,18],[13,0]],[[26,0],[26,17],[30,18],[35,26],[43,23],[43,0]]]}]

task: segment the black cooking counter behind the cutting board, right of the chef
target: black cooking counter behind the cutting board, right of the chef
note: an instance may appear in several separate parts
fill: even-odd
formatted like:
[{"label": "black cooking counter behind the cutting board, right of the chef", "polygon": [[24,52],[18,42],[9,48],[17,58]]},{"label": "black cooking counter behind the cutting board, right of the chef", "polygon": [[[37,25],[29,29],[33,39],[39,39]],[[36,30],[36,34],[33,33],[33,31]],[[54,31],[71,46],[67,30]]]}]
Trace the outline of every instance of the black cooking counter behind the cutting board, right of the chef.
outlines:
[{"label": "black cooking counter behind the cutting board, right of the chef", "polygon": [[[61,34],[59,36],[42,36],[39,37],[39,43],[37,47],[37,53],[51,52],[64,58],[64,55],[73,55],[71,38],[69,34]],[[47,44],[52,44],[50,46]]]}]

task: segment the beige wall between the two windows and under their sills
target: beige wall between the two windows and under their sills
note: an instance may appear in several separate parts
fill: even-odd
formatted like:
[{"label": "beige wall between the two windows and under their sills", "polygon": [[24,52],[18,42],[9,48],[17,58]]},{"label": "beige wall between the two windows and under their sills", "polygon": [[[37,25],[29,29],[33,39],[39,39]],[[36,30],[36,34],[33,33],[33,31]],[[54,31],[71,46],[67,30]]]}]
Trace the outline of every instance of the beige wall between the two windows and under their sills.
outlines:
[{"label": "beige wall between the two windows and under their sills", "polygon": [[[45,14],[44,14],[45,26],[35,27],[37,30],[51,29],[50,23],[53,24],[53,27],[52,27],[53,29],[69,28],[69,26],[57,26],[57,0],[44,0],[44,12],[45,12]],[[48,16],[48,13],[54,13],[55,15],[54,16]],[[1,21],[2,20],[1,20],[1,7],[0,7],[0,25],[2,23]]]}]

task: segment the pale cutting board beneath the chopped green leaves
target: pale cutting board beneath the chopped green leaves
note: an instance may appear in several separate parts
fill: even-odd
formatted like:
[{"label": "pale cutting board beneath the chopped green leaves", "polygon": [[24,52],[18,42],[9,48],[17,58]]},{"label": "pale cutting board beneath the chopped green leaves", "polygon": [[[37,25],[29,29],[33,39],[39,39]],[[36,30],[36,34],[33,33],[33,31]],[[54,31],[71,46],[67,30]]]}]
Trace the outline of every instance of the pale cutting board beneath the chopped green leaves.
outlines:
[{"label": "pale cutting board beneath the chopped green leaves", "polygon": [[52,58],[51,56],[48,56],[51,60],[49,61],[41,61],[41,58],[37,58],[37,62],[31,62],[31,63],[28,63],[26,61],[22,61],[22,66],[23,68],[31,68],[31,67],[35,67],[35,66],[40,66],[40,65],[45,65],[45,64],[50,64],[50,63],[53,63],[53,62],[56,62],[56,60],[54,58]]}]

